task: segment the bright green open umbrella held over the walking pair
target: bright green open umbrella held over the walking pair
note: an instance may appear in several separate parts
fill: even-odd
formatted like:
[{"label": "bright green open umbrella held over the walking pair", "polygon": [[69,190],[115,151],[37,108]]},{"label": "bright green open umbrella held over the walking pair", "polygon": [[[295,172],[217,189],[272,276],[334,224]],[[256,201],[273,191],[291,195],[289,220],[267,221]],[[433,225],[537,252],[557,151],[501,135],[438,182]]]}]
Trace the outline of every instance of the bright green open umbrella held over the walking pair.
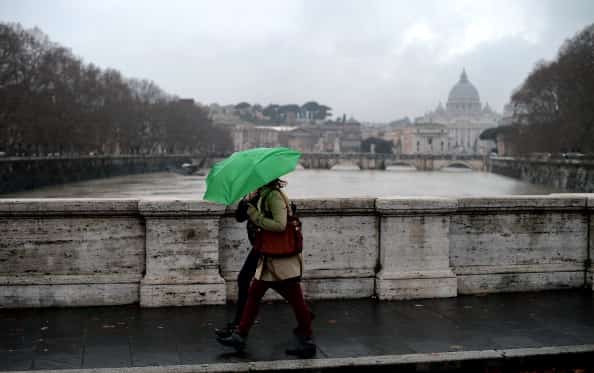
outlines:
[{"label": "bright green open umbrella held over the walking pair", "polygon": [[233,153],[212,167],[203,198],[231,205],[293,171],[300,157],[300,152],[289,148],[254,148]]}]

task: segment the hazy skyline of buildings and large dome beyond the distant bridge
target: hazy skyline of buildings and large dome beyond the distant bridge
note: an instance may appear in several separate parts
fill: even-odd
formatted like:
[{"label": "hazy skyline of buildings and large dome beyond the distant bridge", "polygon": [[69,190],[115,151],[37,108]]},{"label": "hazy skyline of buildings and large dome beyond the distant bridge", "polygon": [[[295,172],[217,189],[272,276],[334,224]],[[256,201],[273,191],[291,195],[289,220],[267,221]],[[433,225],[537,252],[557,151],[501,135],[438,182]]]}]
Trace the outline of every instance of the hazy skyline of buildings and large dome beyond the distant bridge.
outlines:
[{"label": "hazy skyline of buildings and large dome beyond the distant bridge", "polygon": [[352,119],[328,121],[324,118],[329,108],[313,101],[266,108],[247,103],[211,105],[210,110],[215,122],[231,129],[236,151],[289,146],[303,152],[360,152],[363,139],[377,138],[391,141],[392,151],[400,154],[488,154],[495,142],[479,136],[502,122],[488,103],[483,105],[465,70],[450,89],[446,105],[440,102],[414,122],[403,118],[387,126],[362,128]]}]

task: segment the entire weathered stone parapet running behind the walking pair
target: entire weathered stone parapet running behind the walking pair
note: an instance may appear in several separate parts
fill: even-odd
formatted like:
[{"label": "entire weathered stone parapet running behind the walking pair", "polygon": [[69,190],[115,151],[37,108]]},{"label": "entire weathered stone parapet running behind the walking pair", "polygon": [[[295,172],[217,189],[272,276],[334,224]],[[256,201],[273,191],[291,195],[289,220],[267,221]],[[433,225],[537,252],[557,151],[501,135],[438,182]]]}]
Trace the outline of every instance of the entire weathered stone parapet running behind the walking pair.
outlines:
[{"label": "entire weathered stone parapet running behind the walking pair", "polygon": [[[310,299],[592,289],[591,194],[296,203]],[[0,307],[234,300],[249,249],[233,212],[189,200],[0,200]]]}]

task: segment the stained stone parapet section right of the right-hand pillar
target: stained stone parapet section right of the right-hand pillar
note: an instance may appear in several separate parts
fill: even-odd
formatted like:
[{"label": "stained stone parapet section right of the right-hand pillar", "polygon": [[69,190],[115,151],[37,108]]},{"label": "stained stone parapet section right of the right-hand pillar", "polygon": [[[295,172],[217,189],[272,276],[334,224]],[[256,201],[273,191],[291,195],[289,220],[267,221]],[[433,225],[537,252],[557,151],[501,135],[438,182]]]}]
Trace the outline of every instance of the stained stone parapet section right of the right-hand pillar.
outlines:
[{"label": "stained stone parapet section right of the right-hand pillar", "polygon": [[583,196],[461,198],[450,228],[458,293],[583,287],[587,235]]}]

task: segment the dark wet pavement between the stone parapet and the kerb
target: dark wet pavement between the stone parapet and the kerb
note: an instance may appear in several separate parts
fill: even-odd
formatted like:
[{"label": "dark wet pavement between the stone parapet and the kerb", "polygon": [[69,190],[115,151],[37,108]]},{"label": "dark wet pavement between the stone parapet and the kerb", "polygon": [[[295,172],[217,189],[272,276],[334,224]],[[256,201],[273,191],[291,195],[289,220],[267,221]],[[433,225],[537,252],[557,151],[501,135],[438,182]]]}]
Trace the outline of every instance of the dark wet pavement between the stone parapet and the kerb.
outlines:
[{"label": "dark wet pavement between the stone parapet and the kerb", "polygon": [[[0,371],[285,360],[295,324],[264,304],[238,355],[214,339],[233,305],[0,309]],[[591,290],[311,303],[318,358],[594,344]]]}]

